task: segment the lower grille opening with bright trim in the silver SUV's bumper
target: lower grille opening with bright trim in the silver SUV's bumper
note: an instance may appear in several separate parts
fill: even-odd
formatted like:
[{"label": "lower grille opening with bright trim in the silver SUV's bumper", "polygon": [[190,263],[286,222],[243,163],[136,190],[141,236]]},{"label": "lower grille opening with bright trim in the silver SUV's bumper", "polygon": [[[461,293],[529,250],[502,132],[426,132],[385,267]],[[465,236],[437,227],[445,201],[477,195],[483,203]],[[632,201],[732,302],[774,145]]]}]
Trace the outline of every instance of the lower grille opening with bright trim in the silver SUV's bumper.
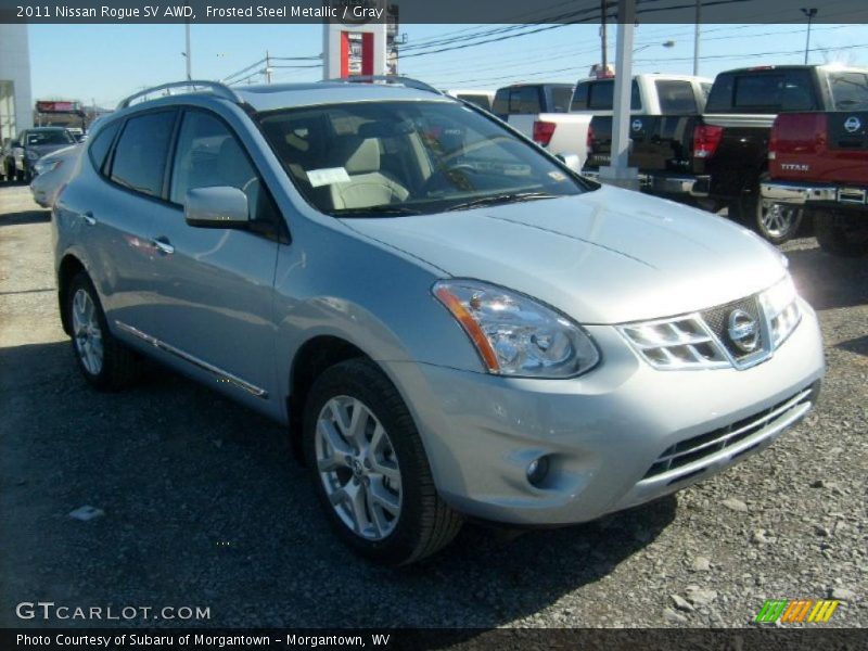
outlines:
[{"label": "lower grille opening with bright trim in the silver SUV's bumper", "polygon": [[[649,480],[655,477],[685,465],[689,465],[694,461],[711,457],[712,455],[715,455],[728,447],[732,447],[740,441],[743,441],[749,436],[762,431],[769,423],[784,416],[791,409],[809,403],[812,398],[812,391],[813,390],[810,388],[806,388],[788,398],[787,400],[778,403],[774,407],[764,409],[760,413],[754,413],[753,416],[731,423],[725,427],[719,427],[713,432],[709,432],[707,434],[700,434],[699,436],[693,436],[692,438],[688,438],[669,446],[660,457],[658,457],[654,464],[651,465],[642,478]],[[733,455],[733,458],[740,454],[742,452]],[[695,469],[688,475],[678,475],[669,483],[684,481],[686,476],[695,474],[702,470],[703,469]]]}]

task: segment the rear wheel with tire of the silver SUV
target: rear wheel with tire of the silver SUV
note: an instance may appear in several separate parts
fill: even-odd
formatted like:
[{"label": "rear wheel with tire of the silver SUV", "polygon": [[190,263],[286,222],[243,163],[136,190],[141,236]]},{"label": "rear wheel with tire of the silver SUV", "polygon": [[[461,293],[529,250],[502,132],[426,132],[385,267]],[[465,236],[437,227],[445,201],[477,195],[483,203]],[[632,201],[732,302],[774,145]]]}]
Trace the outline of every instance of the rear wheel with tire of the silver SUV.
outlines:
[{"label": "rear wheel with tire of the silver SUV", "polygon": [[72,348],[79,371],[100,391],[119,391],[139,376],[139,358],[108,331],[99,295],[87,273],[79,272],[65,296]]}]

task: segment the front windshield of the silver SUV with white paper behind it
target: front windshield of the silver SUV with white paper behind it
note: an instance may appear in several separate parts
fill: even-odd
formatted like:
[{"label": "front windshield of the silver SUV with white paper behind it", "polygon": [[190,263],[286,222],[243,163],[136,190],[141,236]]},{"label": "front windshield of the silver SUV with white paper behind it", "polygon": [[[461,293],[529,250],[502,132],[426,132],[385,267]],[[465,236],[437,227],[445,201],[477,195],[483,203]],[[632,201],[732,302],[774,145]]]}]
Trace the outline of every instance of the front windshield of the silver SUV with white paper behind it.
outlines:
[{"label": "front windshield of the silver SUV with white paper behind it", "polygon": [[578,194],[536,149],[451,102],[357,102],[260,116],[286,171],[321,213],[439,213]]}]

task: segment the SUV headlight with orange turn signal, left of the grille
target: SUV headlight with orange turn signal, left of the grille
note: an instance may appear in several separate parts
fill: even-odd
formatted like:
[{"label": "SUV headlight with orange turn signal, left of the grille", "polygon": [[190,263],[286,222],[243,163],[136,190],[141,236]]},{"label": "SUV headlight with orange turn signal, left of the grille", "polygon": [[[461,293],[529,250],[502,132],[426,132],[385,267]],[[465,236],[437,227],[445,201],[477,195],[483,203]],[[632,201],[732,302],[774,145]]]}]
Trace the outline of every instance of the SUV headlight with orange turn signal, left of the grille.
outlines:
[{"label": "SUV headlight with orange turn signal, left of the grille", "polygon": [[489,373],[573,378],[600,354],[579,326],[515,292],[476,280],[444,280],[432,292],[470,336]]}]

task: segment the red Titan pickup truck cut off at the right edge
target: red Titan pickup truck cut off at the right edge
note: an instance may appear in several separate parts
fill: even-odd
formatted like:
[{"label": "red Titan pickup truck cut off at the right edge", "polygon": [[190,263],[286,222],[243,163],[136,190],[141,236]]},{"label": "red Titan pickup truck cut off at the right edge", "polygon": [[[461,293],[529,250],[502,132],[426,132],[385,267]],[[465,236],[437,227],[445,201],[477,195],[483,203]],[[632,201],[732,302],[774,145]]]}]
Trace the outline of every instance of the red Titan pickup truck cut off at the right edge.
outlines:
[{"label": "red Titan pickup truck cut off at the right edge", "polygon": [[868,255],[868,75],[858,77],[837,111],[777,117],[761,182],[767,201],[808,210],[822,250],[844,256]]}]

